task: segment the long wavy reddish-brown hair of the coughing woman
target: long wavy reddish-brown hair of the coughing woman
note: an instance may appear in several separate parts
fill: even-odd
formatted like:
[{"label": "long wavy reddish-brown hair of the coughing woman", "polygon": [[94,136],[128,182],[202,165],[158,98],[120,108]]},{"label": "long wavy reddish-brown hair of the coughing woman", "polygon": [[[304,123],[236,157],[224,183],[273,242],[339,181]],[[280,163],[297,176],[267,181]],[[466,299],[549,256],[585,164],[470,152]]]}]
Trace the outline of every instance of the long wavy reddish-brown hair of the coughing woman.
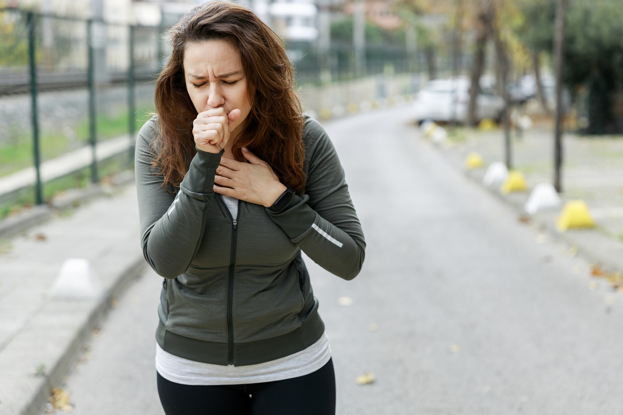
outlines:
[{"label": "long wavy reddish-brown hair of the coughing woman", "polygon": [[244,161],[242,147],[266,161],[283,184],[305,187],[303,117],[293,91],[292,68],[283,42],[254,12],[230,2],[195,7],[169,30],[171,58],[156,82],[159,135],[152,167],[164,176],[167,191],[179,187],[196,153],[193,120],[197,110],[186,90],[186,45],[216,39],[232,41],[240,51],[251,111],[232,153]]}]

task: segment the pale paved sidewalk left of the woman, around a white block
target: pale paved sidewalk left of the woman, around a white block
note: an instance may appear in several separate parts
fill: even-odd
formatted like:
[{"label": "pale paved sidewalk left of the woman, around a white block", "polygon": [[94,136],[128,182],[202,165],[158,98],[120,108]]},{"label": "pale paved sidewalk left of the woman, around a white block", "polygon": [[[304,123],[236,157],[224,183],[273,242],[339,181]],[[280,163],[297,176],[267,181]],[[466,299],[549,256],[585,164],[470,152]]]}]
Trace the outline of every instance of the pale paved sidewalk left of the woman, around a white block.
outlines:
[{"label": "pale paved sidewalk left of the woman, around a white block", "polygon": [[[99,300],[50,298],[65,259],[87,259]],[[39,414],[111,300],[142,269],[133,185],[0,239],[0,414]]]}]

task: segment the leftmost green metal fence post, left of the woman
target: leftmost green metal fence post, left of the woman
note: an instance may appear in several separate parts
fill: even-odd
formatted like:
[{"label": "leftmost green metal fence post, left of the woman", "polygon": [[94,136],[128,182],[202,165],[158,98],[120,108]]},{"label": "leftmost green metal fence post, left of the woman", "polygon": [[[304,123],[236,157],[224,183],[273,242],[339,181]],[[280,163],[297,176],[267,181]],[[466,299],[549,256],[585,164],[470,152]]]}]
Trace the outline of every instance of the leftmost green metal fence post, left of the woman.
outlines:
[{"label": "leftmost green metal fence post, left of the woman", "polygon": [[43,204],[43,191],[41,186],[41,155],[39,150],[39,113],[37,112],[37,62],[35,61],[35,15],[28,12],[28,64],[31,72],[31,120],[32,120],[32,155],[36,173],[35,203]]}]

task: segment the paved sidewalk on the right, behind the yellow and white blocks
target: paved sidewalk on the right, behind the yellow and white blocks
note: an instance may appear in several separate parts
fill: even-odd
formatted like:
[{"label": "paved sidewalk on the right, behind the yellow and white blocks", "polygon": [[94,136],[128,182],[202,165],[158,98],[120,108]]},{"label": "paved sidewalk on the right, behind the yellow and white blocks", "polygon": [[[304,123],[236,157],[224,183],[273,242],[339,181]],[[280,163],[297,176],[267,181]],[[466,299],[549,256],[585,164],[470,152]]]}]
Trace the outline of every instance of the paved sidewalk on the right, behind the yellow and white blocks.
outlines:
[{"label": "paved sidewalk on the right, behind the yellow and white blocks", "polygon": [[[528,191],[503,196],[498,189],[490,190],[513,205],[518,216],[525,216],[523,206],[530,190],[538,183],[552,183],[553,133],[541,126],[526,131],[523,138],[518,139],[513,131],[512,141],[513,168],[525,175]],[[503,132],[459,128],[454,138],[439,148],[460,169],[465,169],[464,161],[469,153],[482,155],[485,167],[465,172],[482,183],[486,167],[504,159]],[[533,226],[545,232],[543,235],[548,233],[550,237],[576,246],[591,262],[607,269],[623,270],[623,138],[567,134],[563,138],[563,154],[562,203],[533,215],[530,218]],[[564,233],[556,229],[556,217],[564,203],[571,199],[583,199],[587,203],[597,223],[595,229]]]}]

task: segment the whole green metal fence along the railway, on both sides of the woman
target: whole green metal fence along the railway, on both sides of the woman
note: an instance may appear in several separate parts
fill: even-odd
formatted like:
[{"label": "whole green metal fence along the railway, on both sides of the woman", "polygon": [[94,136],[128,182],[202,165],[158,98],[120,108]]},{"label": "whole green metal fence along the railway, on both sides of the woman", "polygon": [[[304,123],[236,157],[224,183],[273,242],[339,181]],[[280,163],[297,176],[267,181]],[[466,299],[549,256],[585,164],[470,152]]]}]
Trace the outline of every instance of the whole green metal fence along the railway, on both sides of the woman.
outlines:
[{"label": "whole green metal fence along the railway, on both sides of the woman", "polygon": [[[169,52],[163,34],[178,18],[128,26],[0,8],[0,218],[131,167]],[[422,56],[396,44],[367,45],[363,65],[348,42],[332,42],[325,56],[312,42],[286,45],[303,101],[319,115],[414,92],[407,74],[422,67]]]}]

